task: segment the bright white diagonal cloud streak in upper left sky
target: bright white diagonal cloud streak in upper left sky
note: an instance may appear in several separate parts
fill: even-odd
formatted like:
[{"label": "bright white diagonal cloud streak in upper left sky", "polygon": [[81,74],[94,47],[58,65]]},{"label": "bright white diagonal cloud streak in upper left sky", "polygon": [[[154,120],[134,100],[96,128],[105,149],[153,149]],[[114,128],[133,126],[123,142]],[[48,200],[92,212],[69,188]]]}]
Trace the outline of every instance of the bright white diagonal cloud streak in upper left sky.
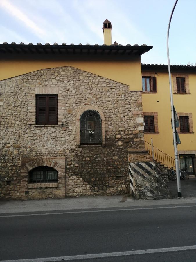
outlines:
[{"label": "bright white diagonal cloud streak in upper left sky", "polygon": [[19,10],[16,6],[9,3],[7,0],[1,0],[0,1],[1,7],[6,10],[12,17],[17,18],[21,22],[24,23],[24,25],[28,28],[30,28],[35,35],[39,36],[43,39],[43,36],[45,35],[45,32],[32,20],[30,20],[21,10]]}]

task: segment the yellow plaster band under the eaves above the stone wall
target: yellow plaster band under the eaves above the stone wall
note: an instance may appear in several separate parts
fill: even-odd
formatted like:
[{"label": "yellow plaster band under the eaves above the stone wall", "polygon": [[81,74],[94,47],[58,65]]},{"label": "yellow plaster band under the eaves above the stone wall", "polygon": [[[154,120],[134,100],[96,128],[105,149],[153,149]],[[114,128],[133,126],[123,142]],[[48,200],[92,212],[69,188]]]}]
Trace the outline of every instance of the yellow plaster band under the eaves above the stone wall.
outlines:
[{"label": "yellow plaster band under the eaves above the stone wall", "polygon": [[[109,56],[108,56],[109,57]],[[0,61],[0,80],[23,75],[45,68],[55,68],[60,66],[73,66],[84,71],[91,72],[109,79],[112,79],[130,86],[130,90],[142,90],[141,86],[141,59],[140,56],[130,56],[129,59],[115,58],[91,59],[91,57],[74,59],[62,59],[55,57],[45,59],[2,59]]]}]

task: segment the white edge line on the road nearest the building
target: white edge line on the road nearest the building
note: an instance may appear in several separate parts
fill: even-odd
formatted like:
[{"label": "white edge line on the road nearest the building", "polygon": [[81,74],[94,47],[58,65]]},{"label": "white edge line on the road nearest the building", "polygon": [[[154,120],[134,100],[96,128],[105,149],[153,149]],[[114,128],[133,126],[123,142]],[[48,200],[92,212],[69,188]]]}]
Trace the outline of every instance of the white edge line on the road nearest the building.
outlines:
[{"label": "white edge line on the road nearest the building", "polygon": [[[111,212],[111,211],[128,211],[128,210],[146,210],[146,209],[164,209],[164,208],[188,208],[196,207],[196,205],[191,206],[161,206],[161,207],[151,207],[151,208],[124,208],[124,209],[107,209],[107,210],[87,210],[87,211],[69,211],[69,212],[53,212],[53,213],[37,213],[37,214],[21,214],[21,215],[0,215],[2,217],[28,217],[28,216],[43,216],[43,215],[60,215],[60,214],[77,214],[77,213],[95,213],[95,212]],[[0,261],[1,262],[1,261]]]}]

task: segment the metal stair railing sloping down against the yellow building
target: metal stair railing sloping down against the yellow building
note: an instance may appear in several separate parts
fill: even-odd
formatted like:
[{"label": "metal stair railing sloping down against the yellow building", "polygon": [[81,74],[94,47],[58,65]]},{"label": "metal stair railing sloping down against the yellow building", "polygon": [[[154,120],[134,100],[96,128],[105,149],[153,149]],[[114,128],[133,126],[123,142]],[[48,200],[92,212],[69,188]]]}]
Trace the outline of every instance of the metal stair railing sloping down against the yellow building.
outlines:
[{"label": "metal stair railing sloping down against the yellow building", "polygon": [[154,153],[154,159],[155,160],[164,164],[168,168],[174,167],[174,169],[175,169],[175,159],[173,157],[170,157],[170,155],[164,153],[163,151],[159,150],[155,146],[152,146],[147,141],[144,141],[144,143],[145,143],[145,149],[147,149],[149,151],[149,154],[150,154],[151,157],[153,157],[153,153]]}]

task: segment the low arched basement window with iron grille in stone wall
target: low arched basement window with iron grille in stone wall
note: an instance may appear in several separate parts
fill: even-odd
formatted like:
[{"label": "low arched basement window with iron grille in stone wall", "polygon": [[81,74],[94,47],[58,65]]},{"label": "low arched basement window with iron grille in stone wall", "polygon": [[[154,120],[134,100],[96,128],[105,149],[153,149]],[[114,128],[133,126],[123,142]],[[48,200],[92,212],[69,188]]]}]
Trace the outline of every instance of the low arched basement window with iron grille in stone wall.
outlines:
[{"label": "low arched basement window with iron grille in stone wall", "polygon": [[29,183],[58,182],[58,172],[52,167],[35,167],[29,172]]}]

